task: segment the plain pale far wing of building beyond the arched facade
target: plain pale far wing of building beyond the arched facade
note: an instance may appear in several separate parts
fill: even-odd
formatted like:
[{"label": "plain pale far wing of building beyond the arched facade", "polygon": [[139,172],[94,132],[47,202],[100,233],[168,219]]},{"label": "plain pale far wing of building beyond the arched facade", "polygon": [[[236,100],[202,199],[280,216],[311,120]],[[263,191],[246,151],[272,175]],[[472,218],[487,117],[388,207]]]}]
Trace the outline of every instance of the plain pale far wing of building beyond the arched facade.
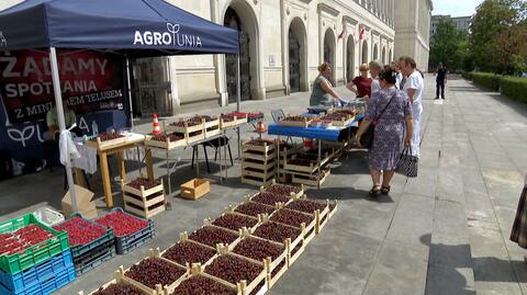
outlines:
[{"label": "plain pale far wing of building beyond the arched facade", "polygon": [[414,57],[418,69],[428,68],[431,0],[397,0],[395,5],[395,56]]}]

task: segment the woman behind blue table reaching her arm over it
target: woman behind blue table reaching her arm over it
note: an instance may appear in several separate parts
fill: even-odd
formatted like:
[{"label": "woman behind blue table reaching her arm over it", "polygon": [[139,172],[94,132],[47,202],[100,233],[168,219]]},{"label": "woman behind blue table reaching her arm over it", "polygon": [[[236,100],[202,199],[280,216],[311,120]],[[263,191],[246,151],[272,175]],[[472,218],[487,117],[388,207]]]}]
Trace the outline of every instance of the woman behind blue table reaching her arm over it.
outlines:
[{"label": "woman behind blue table reaching her arm over it", "polygon": [[340,101],[340,97],[338,95],[337,91],[333,89],[332,82],[332,66],[329,64],[324,63],[318,66],[318,77],[316,77],[315,81],[313,82],[313,92],[311,93],[310,105],[324,105],[324,106],[332,106],[338,104]]}]

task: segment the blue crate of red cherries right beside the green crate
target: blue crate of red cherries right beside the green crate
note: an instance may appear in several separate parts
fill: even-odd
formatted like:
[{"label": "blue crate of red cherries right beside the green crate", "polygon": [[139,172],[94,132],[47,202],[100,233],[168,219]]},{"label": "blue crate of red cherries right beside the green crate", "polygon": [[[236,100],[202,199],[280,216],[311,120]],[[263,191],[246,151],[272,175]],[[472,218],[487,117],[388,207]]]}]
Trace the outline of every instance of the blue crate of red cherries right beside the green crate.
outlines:
[{"label": "blue crate of red cherries right beside the green crate", "polygon": [[53,226],[56,230],[68,234],[71,254],[75,258],[114,240],[113,229],[83,218],[76,214],[72,218]]}]

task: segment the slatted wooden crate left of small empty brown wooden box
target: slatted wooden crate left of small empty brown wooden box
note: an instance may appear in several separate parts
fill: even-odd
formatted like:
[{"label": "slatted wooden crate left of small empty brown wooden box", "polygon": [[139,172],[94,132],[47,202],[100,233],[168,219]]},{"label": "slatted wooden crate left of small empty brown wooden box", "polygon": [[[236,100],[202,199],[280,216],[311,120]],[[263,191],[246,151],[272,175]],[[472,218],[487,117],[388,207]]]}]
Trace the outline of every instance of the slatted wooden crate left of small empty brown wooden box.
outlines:
[{"label": "slatted wooden crate left of small empty brown wooden box", "polygon": [[159,214],[166,209],[167,196],[160,183],[152,189],[136,190],[127,184],[122,184],[124,211],[142,216],[146,219]]}]

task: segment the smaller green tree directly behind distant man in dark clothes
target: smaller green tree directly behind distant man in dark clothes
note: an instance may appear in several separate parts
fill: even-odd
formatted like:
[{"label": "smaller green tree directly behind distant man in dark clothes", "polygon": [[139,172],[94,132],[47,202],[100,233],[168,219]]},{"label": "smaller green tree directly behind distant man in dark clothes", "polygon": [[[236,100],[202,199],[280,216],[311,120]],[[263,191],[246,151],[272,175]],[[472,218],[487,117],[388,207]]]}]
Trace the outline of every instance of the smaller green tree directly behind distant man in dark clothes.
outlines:
[{"label": "smaller green tree directly behind distant man in dark clothes", "polygon": [[439,19],[436,34],[430,41],[430,67],[436,68],[442,63],[448,68],[457,68],[458,31],[456,24],[446,18]]}]

